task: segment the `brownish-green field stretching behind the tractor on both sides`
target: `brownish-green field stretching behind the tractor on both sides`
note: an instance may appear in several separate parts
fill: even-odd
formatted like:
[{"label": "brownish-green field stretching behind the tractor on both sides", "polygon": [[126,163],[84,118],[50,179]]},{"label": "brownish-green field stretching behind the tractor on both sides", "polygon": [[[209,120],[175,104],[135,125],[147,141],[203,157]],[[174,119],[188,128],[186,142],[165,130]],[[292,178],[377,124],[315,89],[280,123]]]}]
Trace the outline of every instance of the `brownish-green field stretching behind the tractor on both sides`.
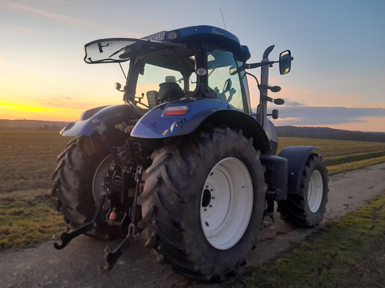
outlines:
[{"label": "brownish-green field stretching behind the tractor on both sides", "polygon": [[[54,131],[0,131],[0,193],[49,189],[57,156],[71,139]],[[328,166],[385,155],[385,143],[288,137],[279,138],[278,153],[296,145],[318,146],[324,157],[349,154],[326,162]]]}]

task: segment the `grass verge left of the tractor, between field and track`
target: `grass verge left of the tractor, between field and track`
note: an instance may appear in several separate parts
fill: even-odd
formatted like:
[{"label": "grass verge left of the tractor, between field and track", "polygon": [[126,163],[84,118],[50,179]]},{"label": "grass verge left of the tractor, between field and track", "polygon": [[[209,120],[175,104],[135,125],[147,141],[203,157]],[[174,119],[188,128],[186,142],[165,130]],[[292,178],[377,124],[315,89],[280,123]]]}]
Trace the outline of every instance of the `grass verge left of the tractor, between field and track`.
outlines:
[{"label": "grass verge left of the tractor, between field and track", "polygon": [[0,249],[57,238],[65,230],[48,190],[0,194]]}]

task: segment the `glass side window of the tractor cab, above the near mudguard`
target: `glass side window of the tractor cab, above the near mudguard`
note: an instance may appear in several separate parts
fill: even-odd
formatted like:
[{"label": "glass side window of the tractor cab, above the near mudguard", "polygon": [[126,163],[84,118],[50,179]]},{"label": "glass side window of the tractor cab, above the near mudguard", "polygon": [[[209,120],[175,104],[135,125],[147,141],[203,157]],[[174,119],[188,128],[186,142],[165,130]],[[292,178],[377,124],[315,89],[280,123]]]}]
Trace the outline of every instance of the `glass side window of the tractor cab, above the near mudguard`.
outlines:
[{"label": "glass side window of the tractor cab, above the near mudguard", "polygon": [[216,92],[217,98],[244,111],[239,74],[230,75],[230,67],[238,65],[233,53],[216,49],[208,53],[209,87]]}]

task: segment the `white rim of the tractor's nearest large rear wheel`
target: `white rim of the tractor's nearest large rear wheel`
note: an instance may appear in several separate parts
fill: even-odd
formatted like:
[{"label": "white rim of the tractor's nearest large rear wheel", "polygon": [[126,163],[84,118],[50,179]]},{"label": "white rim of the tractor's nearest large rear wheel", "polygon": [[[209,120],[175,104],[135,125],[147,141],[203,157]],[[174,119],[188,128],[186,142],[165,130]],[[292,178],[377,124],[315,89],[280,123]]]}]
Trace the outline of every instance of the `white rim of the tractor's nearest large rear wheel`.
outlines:
[{"label": "white rim of the tractor's nearest large rear wheel", "polygon": [[242,238],[253,209],[253,184],[246,166],[235,158],[219,161],[201,196],[201,225],[208,242],[226,250]]}]

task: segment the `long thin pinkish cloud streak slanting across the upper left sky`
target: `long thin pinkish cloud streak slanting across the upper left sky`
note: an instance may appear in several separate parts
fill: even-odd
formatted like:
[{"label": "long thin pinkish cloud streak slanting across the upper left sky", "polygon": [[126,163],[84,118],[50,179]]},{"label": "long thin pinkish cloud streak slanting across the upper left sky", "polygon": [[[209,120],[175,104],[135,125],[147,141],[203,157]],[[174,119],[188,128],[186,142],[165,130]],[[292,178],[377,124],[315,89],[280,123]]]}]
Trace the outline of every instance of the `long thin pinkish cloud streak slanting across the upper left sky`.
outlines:
[{"label": "long thin pinkish cloud streak slanting across the upper left sky", "polygon": [[103,31],[107,31],[109,33],[114,33],[116,35],[123,35],[123,36],[128,36],[128,37],[137,37],[137,38],[142,37],[142,35],[139,35],[137,33],[132,33],[132,32],[129,32],[127,30],[117,29],[117,28],[113,28],[113,27],[110,27],[110,26],[107,26],[104,24],[94,23],[94,22],[89,21],[89,20],[78,19],[78,18],[62,15],[59,13],[54,13],[54,12],[34,8],[31,6],[27,6],[27,5],[11,3],[11,2],[5,2],[5,4],[6,4],[7,8],[10,8],[12,10],[30,12],[30,13],[33,13],[33,14],[36,14],[36,15],[39,15],[39,16],[42,16],[45,18],[50,18],[50,19],[57,21],[57,22],[63,22],[63,23],[81,26],[81,27],[88,27],[88,28],[92,28],[94,30],[103,30]]}]

